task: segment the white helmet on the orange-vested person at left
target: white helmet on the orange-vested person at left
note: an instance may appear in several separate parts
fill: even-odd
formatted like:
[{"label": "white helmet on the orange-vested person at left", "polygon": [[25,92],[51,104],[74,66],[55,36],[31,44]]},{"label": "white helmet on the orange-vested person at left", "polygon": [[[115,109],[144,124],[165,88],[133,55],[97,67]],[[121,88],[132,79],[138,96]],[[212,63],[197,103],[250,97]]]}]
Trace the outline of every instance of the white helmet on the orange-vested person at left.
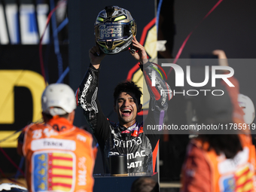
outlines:
[{"label": "white helmet on the orange-vested person at left", "polygon": [[50,84],[41,96],[41,106],[52,116],[71,113],[76,108],[75,93],[67,84]]}]

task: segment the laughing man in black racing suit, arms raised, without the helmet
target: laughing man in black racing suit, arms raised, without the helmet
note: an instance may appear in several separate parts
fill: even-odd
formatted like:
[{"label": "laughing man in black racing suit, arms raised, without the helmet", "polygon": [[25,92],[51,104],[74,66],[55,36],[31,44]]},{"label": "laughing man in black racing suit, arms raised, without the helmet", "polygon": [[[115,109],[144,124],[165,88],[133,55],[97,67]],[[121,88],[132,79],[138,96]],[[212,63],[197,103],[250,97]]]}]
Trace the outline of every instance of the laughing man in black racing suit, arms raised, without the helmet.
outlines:
[{"label": "laughing man in black racing suit, arms raised, without the helmet", "polygon": [[[144,125],[163,123],[170,96],[166,93],[160,94],[160,89],[168,90],[170,89],[169,85],[156,72],[156,86],[151,87],[149,74],[155,66],[148,62],[145,48],[135,37],[133,38],[133,47],[137,52],[130,51],[130,53],[140,62],[151,95],[148,117]],[[114,90],[114,111],[117,112],[119,123],[109,121],[102,113],[96,95],[100,63],[105,54],[99,51],[98,46],[94,46],[90,49],[89,56],[90,67],[77,90],[77,102],[84,109],[84,116],[93,129],[102,154],[105,156],[105,171],[109,171],[109,155],[127,154],[128,172],[153,172],[159,135],[145,134],[143,123],[136,121],[137,113],[142,109],[140,103],[142,92],[133,81],[118,84]]]}]

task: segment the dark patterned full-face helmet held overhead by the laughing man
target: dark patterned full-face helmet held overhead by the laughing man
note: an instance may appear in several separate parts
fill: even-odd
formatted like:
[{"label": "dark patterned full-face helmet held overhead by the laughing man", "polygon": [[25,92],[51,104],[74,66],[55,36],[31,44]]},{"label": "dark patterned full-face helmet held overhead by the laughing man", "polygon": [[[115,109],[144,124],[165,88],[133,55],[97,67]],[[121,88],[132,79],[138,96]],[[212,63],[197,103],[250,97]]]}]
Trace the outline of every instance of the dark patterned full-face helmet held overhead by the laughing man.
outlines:
[{"label": "dark patterned full-face helmet held overhead by the laughing man", "polygon": [[136,22],[130,12],[117,6],[105,7],[94,24],[96,42],[106,54],[127,50],[136,32]]}]

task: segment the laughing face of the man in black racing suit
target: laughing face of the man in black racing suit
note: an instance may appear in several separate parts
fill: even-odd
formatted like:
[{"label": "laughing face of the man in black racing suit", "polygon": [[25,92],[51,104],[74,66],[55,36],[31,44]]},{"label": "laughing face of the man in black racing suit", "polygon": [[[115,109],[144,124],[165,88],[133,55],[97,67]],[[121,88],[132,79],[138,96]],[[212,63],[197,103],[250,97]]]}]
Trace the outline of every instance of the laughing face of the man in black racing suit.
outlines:
[{"label": "laughing face of the man in black racing suit", "polygon": [[136,123],[136,116],[141,111],[142,105],[138,105],[138,101],[133,93],[120,93],[114,105],[114,111],[117,112],[120,125],[126,128]]}]

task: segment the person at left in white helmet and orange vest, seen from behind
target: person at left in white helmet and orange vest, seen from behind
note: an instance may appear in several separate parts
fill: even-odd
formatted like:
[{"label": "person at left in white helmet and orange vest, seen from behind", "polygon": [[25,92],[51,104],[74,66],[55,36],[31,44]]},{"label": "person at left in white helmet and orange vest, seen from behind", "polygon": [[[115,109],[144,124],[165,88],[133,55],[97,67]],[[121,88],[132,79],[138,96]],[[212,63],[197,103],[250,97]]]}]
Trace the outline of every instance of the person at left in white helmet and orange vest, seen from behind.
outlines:
[{"label": "person at left in white helmet and orange vest, seen from behind", "polygon": [[93,137],[73,125],[74,91],[66,84],[50,84],[41,105],[44,123],[26,126],[17,148],[26,157],[28,190],[93,191]]}]

